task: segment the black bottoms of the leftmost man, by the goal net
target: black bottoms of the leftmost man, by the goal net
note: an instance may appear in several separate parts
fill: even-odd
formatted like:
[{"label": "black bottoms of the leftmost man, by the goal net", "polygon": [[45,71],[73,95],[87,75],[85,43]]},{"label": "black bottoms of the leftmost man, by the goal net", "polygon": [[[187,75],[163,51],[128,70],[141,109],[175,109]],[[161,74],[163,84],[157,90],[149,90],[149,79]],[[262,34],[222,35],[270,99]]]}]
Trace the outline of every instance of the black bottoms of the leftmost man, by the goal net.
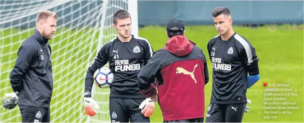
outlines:
[{"label": "black bottoms of the leftmost man, by the goal net", "polygon": [[19,105],[22,122],[50,122],[50,108]]}]

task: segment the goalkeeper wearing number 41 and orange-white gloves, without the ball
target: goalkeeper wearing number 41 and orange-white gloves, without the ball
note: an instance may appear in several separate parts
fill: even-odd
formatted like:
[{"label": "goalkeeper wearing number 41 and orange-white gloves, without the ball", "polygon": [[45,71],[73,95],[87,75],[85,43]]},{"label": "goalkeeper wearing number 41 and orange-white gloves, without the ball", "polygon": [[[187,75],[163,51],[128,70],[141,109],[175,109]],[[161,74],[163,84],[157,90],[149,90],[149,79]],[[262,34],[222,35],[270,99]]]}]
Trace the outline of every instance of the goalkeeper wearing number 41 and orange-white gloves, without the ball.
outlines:
[{"label": "goalkeeper wearing number 41 and orange-white gloves, without the ball", "polygon": [[128,11],[116,11],[113,23],[117,37],[101,47],[87,71],[85,113],[94,116],[99,109],[98,103],[91,97],[93,74],[109,62],[114,74],[110,86],[111,122],[150,122],[149,116],[154,111],[154,102],[140,92],[137,74],[147,64],[153,49],[147,39],[131,34],[131,15]]}]

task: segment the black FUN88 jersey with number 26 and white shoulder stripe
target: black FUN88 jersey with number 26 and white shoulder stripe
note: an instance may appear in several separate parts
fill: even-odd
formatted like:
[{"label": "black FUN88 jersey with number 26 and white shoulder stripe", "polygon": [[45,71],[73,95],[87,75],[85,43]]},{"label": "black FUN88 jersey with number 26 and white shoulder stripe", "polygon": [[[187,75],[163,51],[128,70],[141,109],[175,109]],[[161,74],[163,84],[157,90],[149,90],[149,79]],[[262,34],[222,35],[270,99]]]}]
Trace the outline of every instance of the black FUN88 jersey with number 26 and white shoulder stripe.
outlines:
[{"label": "black FUN88 jersey with number 26 and white shoulder stripe", "polygon": [[208,42],[207,49],[213,70],[211,102],[246,102],[247,67],[258,60],[254,47],[234,33],[228,40],[216,35]]}]

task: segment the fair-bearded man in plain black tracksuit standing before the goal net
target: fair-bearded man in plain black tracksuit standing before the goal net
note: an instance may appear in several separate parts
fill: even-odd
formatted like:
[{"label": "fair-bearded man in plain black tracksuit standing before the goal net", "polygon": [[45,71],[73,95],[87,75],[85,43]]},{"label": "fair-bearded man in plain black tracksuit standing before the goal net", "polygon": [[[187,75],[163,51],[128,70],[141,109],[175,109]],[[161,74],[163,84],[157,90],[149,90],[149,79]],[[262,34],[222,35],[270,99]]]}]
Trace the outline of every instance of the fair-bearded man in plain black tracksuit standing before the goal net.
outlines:
[{"label": "fair-bearded man in plain black tracksuit standing before the goal net", "polygon": [[[44,18],[41,16],[48,16]],[[52,11],[38,14],[34,34],[18,50],[16,64],[11,72],[14,93],[4,100],[4,107],[21,110],[22,122],[50,122],[50,102],[53,93],[51,46],[48,40],[56,31],[58,16]]]}]

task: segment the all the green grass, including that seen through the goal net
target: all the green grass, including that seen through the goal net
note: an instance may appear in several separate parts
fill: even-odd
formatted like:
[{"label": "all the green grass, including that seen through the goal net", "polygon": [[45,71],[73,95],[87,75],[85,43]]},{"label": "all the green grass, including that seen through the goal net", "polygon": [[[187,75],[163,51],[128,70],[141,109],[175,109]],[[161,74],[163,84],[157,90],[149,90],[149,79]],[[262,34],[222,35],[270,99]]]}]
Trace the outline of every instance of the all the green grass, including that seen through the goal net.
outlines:
[{"label": "all the green grass, including that seen through the goal net", "polygon": [[[243,122],[303,122],[303,25],[300,26],[263,26],[258,28],[248,28],[234,26],[234,31],[246,37],[256,49],[256,53],[259,60],[260,80],[255,83],[250,89],[247,90],[247,97],[251,99],[252,103],[248,104],[250,108],[249,113],[245,113]],[[57,30],[57,34],[61,29]],[[18,32],[17,29],[13,30]],[[68,40],[58,43],[61,38],[64,38],[71,33],[64,33],[62,37],[57,37],[50,41],[53,55],[53,73],[54,85],[51,111],[52,122],[83,122],[85,121],[85,115],[83,112],[83,82],[84,74],[87,70],[87,65],[92,62],[92,58],[95,55],[97,34],[92,33],[81,34],[69,37]],[[1,36],[12,33],[10,30],[1,31]],[[5,44],[12,43],[13,40],[18,40],[21,37],[26,38],[31,34],[24,33],[21,36],[17,35],[12,38],[6,38],[1,40],[1,99],[5,98],[4,93],[12,91],[9,84],[9,71],[13,68],[15,61],[5,62],[16,58],[16,53],[3,56],[4,53],[18,50],[20,43],[16,43],[13,46],[2,47]],[[83,32],[85,33],[85,31]],[[193,40],[197,45],[203,49],[206,57],[208,57],[206,45],[211,37],[217,34],[215,27],[210,26],[186,26],[186,33],[188,39]],[[81,35],[84,35],[81,39]],[[157,50],[165,45],[168,37],[165,34],[165,27],[163,26],[146,26],[139,29],[139,36],[147,38],[153,49]],[[85,39],[90,39],[85,41]],[[80,39],[80,40],[76,40]],[[91,40],[92,39],[92,40]],[[70,41],[70,42],[69,42]],[[71,42],[74,41],[74,42]],[[64,47],[65,45],[69,45]],[[64,48],[62,48],[64,47]],[[85,48],[84,48],[85,47]],[[61,51],[59,51],[61,49]],[[93,55],[89,55],[94,52]],[[66,56],[66,57],[60,57]],[[59,57],[56,59],[56,57]],[[71,57],[71,59],[68,59]],[[211,61],[208,60],[208,67],[210,78],[212,78]],[[59,64],[59,65],[58,65]],[[55,67],[56,66],[56,67]],[[55,67],[55,68],[54,68]],[[4,72],[8,70],[7,72]],[[72,72],[71,72],[72,71]],[[205,108],[207,111],[210,95],[212,79],[205,87]],[[263,83],[289,83],[289,88],[292,88],[292,92],[297,92],[297,96],[284,96],[288,101],[296,101],[296,105],[299,106],[297,110],[291,110],[292,114],[264,114],[263,112]],[[8,87],[9,86],[9,87]],[[8,89],[3,89],[3,88]],[[279,87],[276,87],[279,88]],[[98,89],[98,88],[97,88]],[[104,91],[104,90],[99,90]],[[62,93],[64,92],[64,93]],[[62,93],[62,94],[59,94]],[[55,97],[56,96],[56,97]],[[98,100],[108,100],[108,97],[99,97]],[[56,104],[56,105],[55,105]],[[100,104],[102,105],[102,104]],[[103,104],[106,105],[106,104]],[[291,105],[289,105],[291,106]],[[108,107],[101,107],[107,110]],[[205,111],[205,113],[206,113]],[[12,112],[1,107],[1,119],[5,122],[18,122],[21,121],[20,111],[15,108]],[[276,118],[265,119],[263,116],[276,116]],[[15,116],[15,117],[14,117]],[[108,117],[109,115],[99,115],[101,118]],[[14,117],[11,120],[6,120],[10,117]],[[108,117],[109,118],[109,117]],[[151,116],[151,122],[162,122],[162,113],[158,105],[154,114]]]}]

